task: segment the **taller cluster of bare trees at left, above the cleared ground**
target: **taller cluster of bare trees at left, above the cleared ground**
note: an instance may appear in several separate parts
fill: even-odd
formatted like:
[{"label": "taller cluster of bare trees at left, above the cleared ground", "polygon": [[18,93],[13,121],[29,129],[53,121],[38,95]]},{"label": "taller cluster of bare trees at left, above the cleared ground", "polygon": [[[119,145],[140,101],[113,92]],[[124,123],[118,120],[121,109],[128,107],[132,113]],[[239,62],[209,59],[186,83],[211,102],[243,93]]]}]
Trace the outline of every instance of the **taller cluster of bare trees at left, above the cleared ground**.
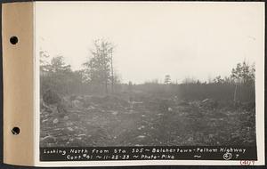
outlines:
[{"label": "taller cluster of bare trees at left, above the cleared ground", "polygon": [[91,55],[79,70],[72,70],[61,55],[51,57],[49,53],[40,54],[41,92],[48,88],[59,93],[114,93],[120,79],[113,68],[114,45],[105,40],[93,41]]}]

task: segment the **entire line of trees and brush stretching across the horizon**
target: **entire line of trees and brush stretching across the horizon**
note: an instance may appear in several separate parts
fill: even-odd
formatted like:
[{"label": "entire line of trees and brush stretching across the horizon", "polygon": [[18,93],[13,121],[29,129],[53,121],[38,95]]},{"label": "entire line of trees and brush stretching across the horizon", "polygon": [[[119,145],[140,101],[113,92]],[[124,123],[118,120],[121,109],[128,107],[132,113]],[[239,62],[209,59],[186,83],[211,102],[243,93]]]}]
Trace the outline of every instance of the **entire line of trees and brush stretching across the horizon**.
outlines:
[{"label": "entire line of trees and brush stretching across the horizon", "polygon": [[[62,94],[112,94],[139,90],[148,93],[180,95],[184,98],[214,97],[227,95],[228,99],[238,101],[248,98],[255,100],[255,64],[246,61],[232,68],[230,76],[215,76],[208,82],[194,78],[185,78],[181,84],[172,82],[166,75],[164,82],[158,79],[143,84],[122,84],[114,71],[114,44],[105,40],[93,41],[90,57],[81,69],[72,70],[61,55],[51,58],[50,54],[40,51],[40,87],[41,93],[53,89]],[[49,61],[47,61],[49,60]],[[244,96],[247,93],[247,96]],[[243,94],[243,95],[242,95]],[[246,94],[245,94],[246,95]]]}]

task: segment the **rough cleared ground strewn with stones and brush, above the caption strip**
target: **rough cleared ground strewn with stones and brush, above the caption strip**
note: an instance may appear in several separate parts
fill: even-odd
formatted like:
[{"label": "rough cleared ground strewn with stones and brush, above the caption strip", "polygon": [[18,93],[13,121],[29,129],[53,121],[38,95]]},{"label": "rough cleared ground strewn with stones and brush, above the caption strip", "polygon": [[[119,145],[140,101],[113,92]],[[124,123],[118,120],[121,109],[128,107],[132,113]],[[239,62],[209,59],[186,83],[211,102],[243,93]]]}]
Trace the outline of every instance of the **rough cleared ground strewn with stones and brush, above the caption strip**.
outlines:
[{"label": "rough cleared ground strewn with stones and brush, above the caption strip", "polygon": [[41,101],[40,147],[255,145],[255,105],[177,98]]}]

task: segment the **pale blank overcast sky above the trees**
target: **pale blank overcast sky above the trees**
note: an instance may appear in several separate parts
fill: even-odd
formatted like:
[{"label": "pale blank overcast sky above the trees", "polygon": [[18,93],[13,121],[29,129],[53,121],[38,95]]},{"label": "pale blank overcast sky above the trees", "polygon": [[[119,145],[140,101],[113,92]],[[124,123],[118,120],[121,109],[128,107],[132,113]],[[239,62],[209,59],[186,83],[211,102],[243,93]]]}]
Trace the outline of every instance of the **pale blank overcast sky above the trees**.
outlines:
[{"label": "pale blank overcast sky above the trees", "polygon": [[73,69],[93,40],[116,44],[123,82],[228,76],[263,53],[263,3],[36,3],[36,52],[61,54]]}]

